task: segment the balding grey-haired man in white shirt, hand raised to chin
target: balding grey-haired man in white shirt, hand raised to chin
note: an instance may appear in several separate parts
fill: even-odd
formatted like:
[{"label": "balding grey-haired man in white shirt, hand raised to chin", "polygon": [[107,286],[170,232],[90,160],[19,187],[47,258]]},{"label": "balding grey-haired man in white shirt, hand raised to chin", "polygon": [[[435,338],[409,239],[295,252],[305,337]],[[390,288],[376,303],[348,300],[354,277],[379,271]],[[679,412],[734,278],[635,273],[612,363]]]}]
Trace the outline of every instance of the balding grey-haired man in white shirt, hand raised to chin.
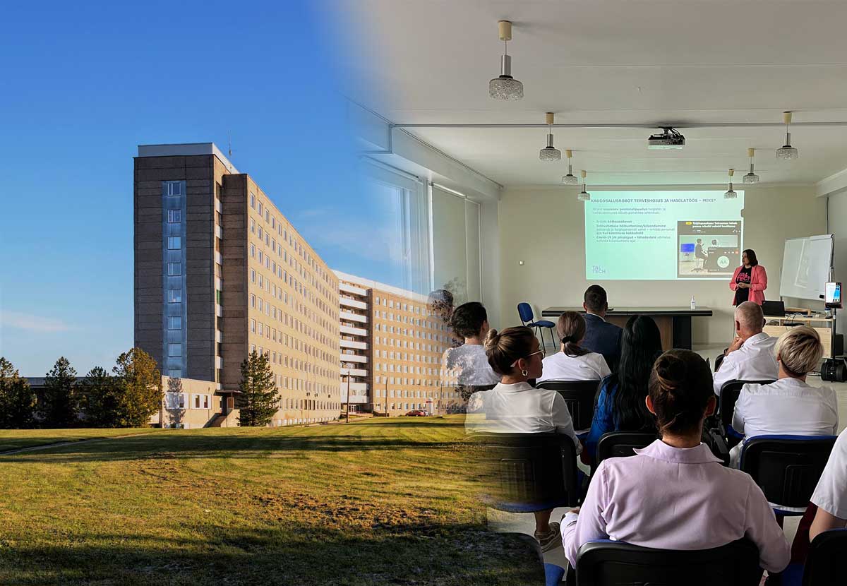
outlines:
[{"label": "balding grey-haired man in white shirt, hand raised to chin", "polygon": [[777,359],[773,346],[777,339],[765,334],[765,314],[761,306],[745,301],[735,308],[735,331],[738,336],[723,353],[723,362],[715,373],[715,394],[729,380],[776,380]]}]

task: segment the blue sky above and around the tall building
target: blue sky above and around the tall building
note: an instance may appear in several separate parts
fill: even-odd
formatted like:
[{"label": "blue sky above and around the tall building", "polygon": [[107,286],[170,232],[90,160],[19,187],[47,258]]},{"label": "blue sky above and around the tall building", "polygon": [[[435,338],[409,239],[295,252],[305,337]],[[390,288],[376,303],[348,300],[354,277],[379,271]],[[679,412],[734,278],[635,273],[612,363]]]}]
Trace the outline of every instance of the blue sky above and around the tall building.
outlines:
[{"label": "blue sky above and around the tall building", "polygon": [[[0,356],[80,374],[132,346],[132,158],[214,141],[332,268],[400,285],[320,3],[14,3],[0,80]],[[365,242],[366,244],[362,244]]]}]

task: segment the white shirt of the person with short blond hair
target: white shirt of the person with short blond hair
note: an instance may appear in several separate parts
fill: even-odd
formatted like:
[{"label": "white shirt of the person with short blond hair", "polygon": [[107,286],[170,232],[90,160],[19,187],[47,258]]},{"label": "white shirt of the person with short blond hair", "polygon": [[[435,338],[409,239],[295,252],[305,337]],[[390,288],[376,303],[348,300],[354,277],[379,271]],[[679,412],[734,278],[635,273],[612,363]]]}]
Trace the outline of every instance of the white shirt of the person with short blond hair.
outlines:
[{"label": "white shirt of the person with short blond hair", "polygon": [[[733,428],[745,439],[756,435],[835,435],[839,401],[829,387],[813,387],[800,379],[772,384],[745,384],[735,403]],[[742,444],[730,452],[738,467]]]}]

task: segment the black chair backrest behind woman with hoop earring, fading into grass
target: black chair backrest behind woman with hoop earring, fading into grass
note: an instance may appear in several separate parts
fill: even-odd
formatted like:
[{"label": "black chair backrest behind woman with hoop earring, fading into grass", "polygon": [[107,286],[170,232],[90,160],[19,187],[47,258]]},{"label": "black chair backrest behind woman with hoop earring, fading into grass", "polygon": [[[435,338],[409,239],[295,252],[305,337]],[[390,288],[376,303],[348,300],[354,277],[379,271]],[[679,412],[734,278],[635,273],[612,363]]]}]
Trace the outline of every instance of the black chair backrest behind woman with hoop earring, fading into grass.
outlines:
[{"label": "black chair backrest behind woman with hoop earring, fading into grass", "polygon": [[563,434],[474,434],[481,448],[485,491],[501,511],[576,506],[577,454]]}]

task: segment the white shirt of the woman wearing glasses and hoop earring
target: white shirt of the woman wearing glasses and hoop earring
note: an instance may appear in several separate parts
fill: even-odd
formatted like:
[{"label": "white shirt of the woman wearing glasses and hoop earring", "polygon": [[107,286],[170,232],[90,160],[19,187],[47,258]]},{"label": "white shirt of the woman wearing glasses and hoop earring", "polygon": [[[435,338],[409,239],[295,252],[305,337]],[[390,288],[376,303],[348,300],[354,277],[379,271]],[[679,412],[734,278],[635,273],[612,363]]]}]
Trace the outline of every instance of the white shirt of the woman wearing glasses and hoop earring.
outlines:
[{"label": "white shirt of the woman wearing glasses and hoop earring", "polygon": [[555,390],[535,389],[529,383],[498,383],[494,389],[473,393],[468,400],[465,428],[491,434],[556,432],[573,439],[578,454],[582,450],[562,395]]}]

